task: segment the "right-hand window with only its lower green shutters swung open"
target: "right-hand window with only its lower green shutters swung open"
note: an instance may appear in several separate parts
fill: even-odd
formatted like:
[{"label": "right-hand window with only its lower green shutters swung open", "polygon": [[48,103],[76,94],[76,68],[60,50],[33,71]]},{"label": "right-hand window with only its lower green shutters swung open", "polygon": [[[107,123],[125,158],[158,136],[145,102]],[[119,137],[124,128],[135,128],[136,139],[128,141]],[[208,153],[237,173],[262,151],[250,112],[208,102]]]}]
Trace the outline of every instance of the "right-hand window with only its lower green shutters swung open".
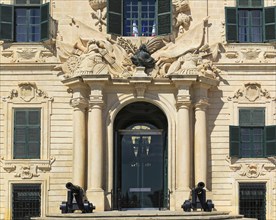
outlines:
[{"label": "right-hand window with only its lower green shutters swung open", "polygon": [[265,109],[240,109],[239,126],[230,126],[230,156],[262,158],[276,155],[276,126],[265,126]]}]

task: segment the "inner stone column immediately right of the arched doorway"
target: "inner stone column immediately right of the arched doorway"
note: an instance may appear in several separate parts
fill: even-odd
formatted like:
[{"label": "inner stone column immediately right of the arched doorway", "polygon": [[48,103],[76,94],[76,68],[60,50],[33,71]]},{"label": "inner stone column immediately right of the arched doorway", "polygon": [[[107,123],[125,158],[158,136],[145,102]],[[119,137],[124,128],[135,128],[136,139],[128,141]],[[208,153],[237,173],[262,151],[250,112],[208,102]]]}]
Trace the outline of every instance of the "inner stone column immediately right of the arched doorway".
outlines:
[{"label": "inner stone column immediately right of the arched doorway", "polygon": [[[190,86],[196,77],[172,78],[178,93],[176,97],[176,164],[175,164],[175,208],[181,209],[184,198],[190,195],[191,179],[191,139],[190,139]],[[183,200],[184,199],[184,200]]]}]

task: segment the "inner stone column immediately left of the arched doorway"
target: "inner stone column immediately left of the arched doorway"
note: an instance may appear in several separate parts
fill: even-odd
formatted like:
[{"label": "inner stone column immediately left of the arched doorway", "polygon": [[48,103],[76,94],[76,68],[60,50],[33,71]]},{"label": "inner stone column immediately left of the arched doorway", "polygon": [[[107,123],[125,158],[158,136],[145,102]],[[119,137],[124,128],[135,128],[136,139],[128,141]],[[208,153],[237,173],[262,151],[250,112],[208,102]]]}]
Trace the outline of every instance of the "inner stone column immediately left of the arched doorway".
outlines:
[{"label": "inner stone column immediately left of the arched doorway", "polygon": [[[102,76],[103,77],[103,76]],[[104,146],[103,146],[103,88],[109,78],[85,78],[91,93],[88,112],[88,175],[87,197],[98,211],[105,209],[104,203]]]}]

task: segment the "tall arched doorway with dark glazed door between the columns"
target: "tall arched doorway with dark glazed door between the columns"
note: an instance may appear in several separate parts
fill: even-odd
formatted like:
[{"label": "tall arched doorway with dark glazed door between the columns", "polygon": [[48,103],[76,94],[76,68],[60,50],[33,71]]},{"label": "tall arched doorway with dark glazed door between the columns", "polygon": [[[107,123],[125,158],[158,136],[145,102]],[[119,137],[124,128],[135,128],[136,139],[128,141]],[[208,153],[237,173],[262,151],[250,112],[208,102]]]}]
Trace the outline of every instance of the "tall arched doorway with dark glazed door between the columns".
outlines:
[{"label": "tall arched doorway with dark glazed door between the columns", "polygon": [[113,209],[168,207],[167,127],[164,113],[147,102],[116,116]]}]

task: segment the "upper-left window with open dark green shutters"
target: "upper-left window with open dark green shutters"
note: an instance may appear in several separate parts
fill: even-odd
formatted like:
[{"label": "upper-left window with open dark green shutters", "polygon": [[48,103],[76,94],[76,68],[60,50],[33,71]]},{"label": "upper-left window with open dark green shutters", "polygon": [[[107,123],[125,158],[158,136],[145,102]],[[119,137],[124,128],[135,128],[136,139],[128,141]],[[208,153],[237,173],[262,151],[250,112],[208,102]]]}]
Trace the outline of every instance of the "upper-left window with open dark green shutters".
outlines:
[{"label": "upper-left window with open dark green shutters", "polygon": [[49,3],[41,0],[15,0],[0,4],[0,39],[14,42],[39,42],[48,39]]}]

